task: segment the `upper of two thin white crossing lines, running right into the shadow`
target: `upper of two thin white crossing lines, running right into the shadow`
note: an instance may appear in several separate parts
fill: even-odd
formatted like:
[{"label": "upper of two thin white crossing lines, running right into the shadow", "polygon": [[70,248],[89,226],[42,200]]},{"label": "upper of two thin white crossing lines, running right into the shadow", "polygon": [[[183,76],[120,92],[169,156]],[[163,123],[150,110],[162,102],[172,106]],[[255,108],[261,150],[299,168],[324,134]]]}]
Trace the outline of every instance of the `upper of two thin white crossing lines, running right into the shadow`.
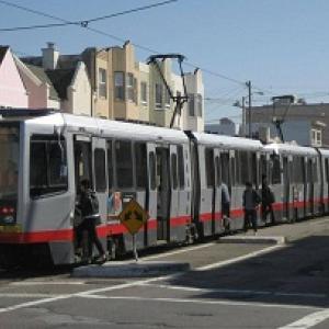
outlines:
[{"label": "upper of two thin white crossing lines, running right into the shadow", "polygon": [[211,290],[211,288],[196,288],[190,286],[180,285],[167,285],[167,284],[154,284],[141,283],[140,285],[167,288],[173,291],[196,292],[196,293],[219,293],[219,294],[237,294],[237,295],[270,295],[270,296],[284,296],[284,297],[306,297],[306,298],[328,298],[327,294],[304,294],[304,293],[280,293],[280,292],[266,292],[266,291],[250,291],[250,290]]}]

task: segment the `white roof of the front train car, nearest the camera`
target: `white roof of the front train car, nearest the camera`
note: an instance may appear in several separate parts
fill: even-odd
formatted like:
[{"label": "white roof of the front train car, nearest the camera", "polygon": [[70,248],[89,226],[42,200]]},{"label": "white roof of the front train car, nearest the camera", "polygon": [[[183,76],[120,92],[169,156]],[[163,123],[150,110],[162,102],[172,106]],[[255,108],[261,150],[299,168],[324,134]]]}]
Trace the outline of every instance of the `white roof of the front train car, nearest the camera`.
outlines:
[{"label": "white roof of the front train car, nearest the camera", "polygon": [[49,112],[45,115],[26,116],[23,118],[27,125],[56,126],[78,134],[116,137],[123,139],[131,139],[133,137],[137,140],[150,140],[155,143],[189,143],[188,136],[181,131],[99,117]]}]

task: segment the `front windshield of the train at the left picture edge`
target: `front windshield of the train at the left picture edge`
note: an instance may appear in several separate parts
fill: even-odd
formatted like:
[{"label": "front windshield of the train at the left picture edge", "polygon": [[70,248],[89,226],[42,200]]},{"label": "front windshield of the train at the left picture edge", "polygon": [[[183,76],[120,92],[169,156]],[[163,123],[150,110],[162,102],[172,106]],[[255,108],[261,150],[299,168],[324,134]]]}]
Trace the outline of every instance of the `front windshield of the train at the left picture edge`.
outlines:
[{"label": "front windshield of the train at the left picture edge", "polygon": [[0,211],[3,202],[18,200],[19,148],[19,127],[0,125]]}]

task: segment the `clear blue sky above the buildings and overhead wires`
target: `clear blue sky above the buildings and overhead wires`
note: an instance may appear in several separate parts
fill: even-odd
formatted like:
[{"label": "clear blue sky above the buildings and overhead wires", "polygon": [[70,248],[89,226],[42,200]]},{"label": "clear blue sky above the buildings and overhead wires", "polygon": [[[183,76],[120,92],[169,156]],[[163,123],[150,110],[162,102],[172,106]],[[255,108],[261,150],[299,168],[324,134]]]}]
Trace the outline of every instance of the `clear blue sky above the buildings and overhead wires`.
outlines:
[{"label": "clear blue sky above the buildings and overhead wires", "polygon": [[[80,21],[121,12],[161,0],[7,0],[67,21]],[[0,1],[0,29],[57,21],[29,13]],[[181,53],[204,71],[206,122],[223,116],[240,121],[230,106],[247,95],[251,80],[254,104],[272,95],[294,93],[311,102],[329,101],[329,1],[327,0],[179,0],[177,2],[95,22],[90,27],[131,39],[159,53]],[[19,55],[39,55],[46,42],[61,54],[77,54],[88,46],[123,42],[66,26],[24,32],[0,32],[0,44]],[[150,52],[136,47],[138,60]],[[184,66],[185,70],[192,70]],[[220,76],[237,80],[223,79]]]}]

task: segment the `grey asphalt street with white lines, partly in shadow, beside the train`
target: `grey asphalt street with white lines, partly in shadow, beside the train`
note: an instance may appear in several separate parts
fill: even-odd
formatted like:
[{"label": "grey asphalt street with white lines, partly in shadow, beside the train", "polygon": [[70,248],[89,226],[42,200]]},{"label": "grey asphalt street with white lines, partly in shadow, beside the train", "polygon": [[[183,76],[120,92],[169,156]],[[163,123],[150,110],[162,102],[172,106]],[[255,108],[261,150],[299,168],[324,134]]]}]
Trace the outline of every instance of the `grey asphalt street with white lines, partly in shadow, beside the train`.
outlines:
[{"label": "grey asphalt street with white lines, partly in shadow, beside the train", "polygon": [[0,328],[329,328],[329,218],[238,237],[141,257],[191,264],[169,275],[2,271]]}]

